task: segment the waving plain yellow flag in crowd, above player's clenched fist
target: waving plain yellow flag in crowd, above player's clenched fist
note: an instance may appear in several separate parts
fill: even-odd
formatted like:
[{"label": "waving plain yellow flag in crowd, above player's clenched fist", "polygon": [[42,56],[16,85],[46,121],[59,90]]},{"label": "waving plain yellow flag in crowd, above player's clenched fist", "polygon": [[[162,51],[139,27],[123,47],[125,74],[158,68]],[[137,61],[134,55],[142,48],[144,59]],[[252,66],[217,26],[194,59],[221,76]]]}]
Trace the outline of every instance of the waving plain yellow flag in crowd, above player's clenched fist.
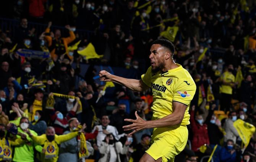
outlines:
[{"label": "waving plain yellow flag in crowd, above player's clenched fist", "polygon": [[80,54],[82,56],[85,56],[86,60],[89,60],[89,59],[100,59],[101,57],[103,57],[103,55],[98,55],[96,53],[95,48],[92,45],[92,43],[89,43],[86,48],[84,48],[81,51],[77,51],[77,52],[78,52],[78,54]]}]

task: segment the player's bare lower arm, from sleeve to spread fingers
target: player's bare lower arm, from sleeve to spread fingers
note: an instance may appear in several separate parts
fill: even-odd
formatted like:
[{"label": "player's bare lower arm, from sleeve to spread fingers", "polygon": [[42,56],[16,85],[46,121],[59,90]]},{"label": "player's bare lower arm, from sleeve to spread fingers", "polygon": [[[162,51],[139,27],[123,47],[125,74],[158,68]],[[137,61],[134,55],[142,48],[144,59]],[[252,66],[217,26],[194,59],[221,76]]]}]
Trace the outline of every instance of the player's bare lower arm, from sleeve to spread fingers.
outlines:
[{"label": "player's bare lower arm, from sleeve to spread fingers", "polygon": [[153,121],[144,121],[137,111],[135,112],[136,120],[125,119],[125,121],[133,122],[133,124],[123,126],[125,131],[133,130],[129,135],[132,135],[135,132],[138,132],[142,129],[147,128],[160,128],[160,127],[171,127],[173,125],[178,125],[182,122],[187,105],[184,105],[180,102],[173,102],[173,113],[165,116],[164,118],[153,120]]}]

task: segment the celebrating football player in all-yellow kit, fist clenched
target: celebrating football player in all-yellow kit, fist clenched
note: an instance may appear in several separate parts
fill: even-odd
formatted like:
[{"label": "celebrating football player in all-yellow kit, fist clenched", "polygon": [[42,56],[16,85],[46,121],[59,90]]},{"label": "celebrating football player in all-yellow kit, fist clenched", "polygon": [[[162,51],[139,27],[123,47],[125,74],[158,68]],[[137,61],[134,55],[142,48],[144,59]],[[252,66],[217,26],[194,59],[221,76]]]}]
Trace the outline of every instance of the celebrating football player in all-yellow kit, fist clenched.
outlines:
[{"label": "celebrating football player in all-yellow kit, fist clenched", "polygon": [[150,147],[139,162],[172,162],[188,140],[188,110],[196,85],[190,73],[173,61],[175,49],[172,42],[155,40],[150,52],[151,67],[140,80],[122,78],[105,70],[100,71],[99,76],[101,81],[114,81],[133,91],[144,91],[151,87],[154,101],[152,120],[144,121],[135,112],[136,120],[125,119],[133,124],[123,128],[133,130],[130,134],[154,128]]}]

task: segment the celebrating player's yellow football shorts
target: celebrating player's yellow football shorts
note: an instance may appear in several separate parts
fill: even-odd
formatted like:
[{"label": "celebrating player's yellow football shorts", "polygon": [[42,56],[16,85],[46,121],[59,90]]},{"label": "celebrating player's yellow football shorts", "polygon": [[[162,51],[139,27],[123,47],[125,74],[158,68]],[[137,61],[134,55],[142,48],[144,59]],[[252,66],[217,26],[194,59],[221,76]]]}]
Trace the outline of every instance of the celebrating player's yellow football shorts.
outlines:
[{"label": "celebrating player's yellow football shorts", "polygon": [[162,162],[173,162],[186,146],[188,129],[186,125],[155,128],[151,138],[151,146],[146,152],[155,160],[162,157]]}]

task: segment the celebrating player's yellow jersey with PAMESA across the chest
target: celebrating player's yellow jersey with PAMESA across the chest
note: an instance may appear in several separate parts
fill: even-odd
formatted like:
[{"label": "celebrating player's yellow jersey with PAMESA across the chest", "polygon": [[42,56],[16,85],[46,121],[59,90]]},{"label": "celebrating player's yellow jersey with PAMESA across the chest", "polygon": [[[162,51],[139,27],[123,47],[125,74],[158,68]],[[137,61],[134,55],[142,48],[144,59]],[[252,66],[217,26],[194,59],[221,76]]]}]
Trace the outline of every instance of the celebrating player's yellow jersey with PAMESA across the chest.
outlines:
[{"label": "celebrating player's yellow jersey with PAMESA across the chest", "polygon": [[152,67],[147,69],[146,74],[141,76],[142,81],[152,89],[153,111],[152,120],[163,118],[173,113],[172,102],[180,102],[186,108],[181,125],[190,124],[189,105],[196,92],[196,84],[190,73],[181,65],[168,70],[166,73],[152,73]]}]

